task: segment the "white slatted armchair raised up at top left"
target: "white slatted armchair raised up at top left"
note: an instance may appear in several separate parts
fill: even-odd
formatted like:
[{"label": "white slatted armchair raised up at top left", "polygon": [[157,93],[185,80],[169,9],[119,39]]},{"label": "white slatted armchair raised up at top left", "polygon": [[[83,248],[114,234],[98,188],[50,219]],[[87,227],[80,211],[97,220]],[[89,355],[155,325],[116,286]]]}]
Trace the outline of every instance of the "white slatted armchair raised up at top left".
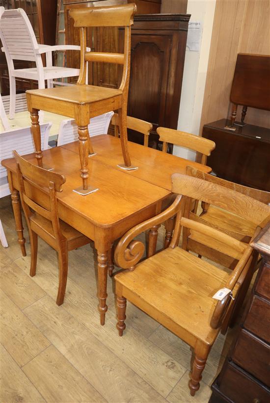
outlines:
[{"label": "white slatted armchair raised up at top left", "polygon": [[[5,53],[10,85],[10,107],[9,118],[14,118],[16,102],[16,81],[15,77],[38,81],[38,88],[45,88],[47,80],[48,88],[53,83],[58,85],[69,85],[54,79],[79,76],[80,69],[69,67],[56,67],[52,65],[52,52],[77,50],[76,45],[38,45],[33,28],[22,8],[5,10],[0,7],[0,39],[2,51]],[[88,48],[87,51],[90,51]],[[41,54],[46,53],[46,67],[43,67]],[[27,69],[14,69],[13,59],[34,61],[36,67]],[[41,121],[40,116],[40,121]]]}]

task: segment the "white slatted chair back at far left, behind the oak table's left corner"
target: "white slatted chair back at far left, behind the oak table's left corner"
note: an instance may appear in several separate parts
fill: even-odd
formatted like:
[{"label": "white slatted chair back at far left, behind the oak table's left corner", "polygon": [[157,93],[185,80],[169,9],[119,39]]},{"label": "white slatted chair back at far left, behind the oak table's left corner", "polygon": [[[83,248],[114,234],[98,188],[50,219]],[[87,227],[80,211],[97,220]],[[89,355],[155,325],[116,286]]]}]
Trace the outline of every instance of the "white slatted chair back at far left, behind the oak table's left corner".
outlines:
[{"label": "white slatted chair back at far left, behind the oak table's left corner", "polygon": [[[47,150],[49,141],[49,132],[52,123],[44,123],[40,125],[41,147]],[[12,158],[12,150],[14,147],[21,155],[35,152],[35,145],[31,134],[31,128],[9,130],[0,133],[0,162],[7,158]],[[6,169],[0,166],[0,178],[7,176]]]}]

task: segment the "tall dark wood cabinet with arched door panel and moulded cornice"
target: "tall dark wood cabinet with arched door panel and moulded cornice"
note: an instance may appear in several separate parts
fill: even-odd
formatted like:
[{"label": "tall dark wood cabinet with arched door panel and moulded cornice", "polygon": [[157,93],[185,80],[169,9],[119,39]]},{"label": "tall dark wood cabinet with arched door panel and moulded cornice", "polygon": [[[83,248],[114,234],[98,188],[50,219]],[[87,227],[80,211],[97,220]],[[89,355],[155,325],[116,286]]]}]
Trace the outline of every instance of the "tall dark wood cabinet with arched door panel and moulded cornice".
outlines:
[{"label": "tall dark wood cabinet with arched door panel and moulded cornice", "polygon": [[[131,34],[128,114],[153,124],[149,145],[157,147],[158,126],[177,129],[190,15],[136,15]],[[141,137],[130,134],[132,141]]]}]

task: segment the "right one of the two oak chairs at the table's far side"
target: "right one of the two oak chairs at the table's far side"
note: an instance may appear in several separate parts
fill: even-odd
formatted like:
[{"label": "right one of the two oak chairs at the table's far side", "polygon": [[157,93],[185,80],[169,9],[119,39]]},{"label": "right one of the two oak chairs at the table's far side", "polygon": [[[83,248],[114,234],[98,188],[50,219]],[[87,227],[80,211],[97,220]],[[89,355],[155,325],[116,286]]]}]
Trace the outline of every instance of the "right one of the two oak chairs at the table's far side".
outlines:
[{"label": "right one of the two oak chairs at the table's far side", "polygon": [[[157,133],[160,136],[160,140],[163,142],[162,151],[167,152],[168,143],[178,145],[180,147],[188,148],[189,150],[196,152],[196,162],[206,165],[207,157],[215,149],[216,144],[214,141],[207,138],[197,136],[195,134],[182,132],[180,130],[168,129],[165,127],[158,127]],[[169,201],[172,201],[173,197],[170,197]],[[167,207],[168,203],[164,203],[164,207]],[[197,211],[198,201],[194,200],[191,204],[191,210]],[[165,222],[165,241],[164,246],[167,247],[171,241],[172,231],[174,227],[174,217]]]}]

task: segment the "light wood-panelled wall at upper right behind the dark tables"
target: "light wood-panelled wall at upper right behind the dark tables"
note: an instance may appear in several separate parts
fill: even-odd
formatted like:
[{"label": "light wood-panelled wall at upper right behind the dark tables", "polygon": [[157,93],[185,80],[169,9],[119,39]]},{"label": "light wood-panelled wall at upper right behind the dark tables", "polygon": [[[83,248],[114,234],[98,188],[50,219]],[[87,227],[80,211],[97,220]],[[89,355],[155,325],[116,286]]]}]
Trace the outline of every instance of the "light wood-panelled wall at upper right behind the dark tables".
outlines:
[{"label": "light wood-panelled wall at upper right behind the dark tables", "polygon": [[[216,0],[201,128],[228,117],[230,91],[238,53],[270,54],[268,0]],[[241,120],[239,108],[237,120]],[[270,128],[270,113],[248,108],[246,123]]]}]

